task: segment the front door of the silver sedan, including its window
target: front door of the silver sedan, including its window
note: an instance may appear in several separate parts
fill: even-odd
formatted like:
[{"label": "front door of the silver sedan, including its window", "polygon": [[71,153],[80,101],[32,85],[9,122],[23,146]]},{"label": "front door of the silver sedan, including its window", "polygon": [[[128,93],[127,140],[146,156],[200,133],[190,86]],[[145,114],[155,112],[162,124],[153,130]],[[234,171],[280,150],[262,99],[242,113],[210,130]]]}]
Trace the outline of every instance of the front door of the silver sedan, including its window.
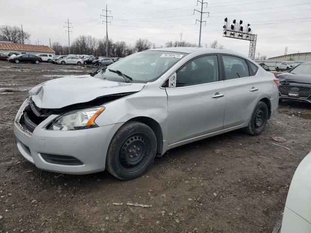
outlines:
[{"label": "front door of the silver sedan, including its window", "polygon": [[176,71],[168,95],[168,143],[181,142],[223,129],[225,84],[218,55],[194,58]]}]

